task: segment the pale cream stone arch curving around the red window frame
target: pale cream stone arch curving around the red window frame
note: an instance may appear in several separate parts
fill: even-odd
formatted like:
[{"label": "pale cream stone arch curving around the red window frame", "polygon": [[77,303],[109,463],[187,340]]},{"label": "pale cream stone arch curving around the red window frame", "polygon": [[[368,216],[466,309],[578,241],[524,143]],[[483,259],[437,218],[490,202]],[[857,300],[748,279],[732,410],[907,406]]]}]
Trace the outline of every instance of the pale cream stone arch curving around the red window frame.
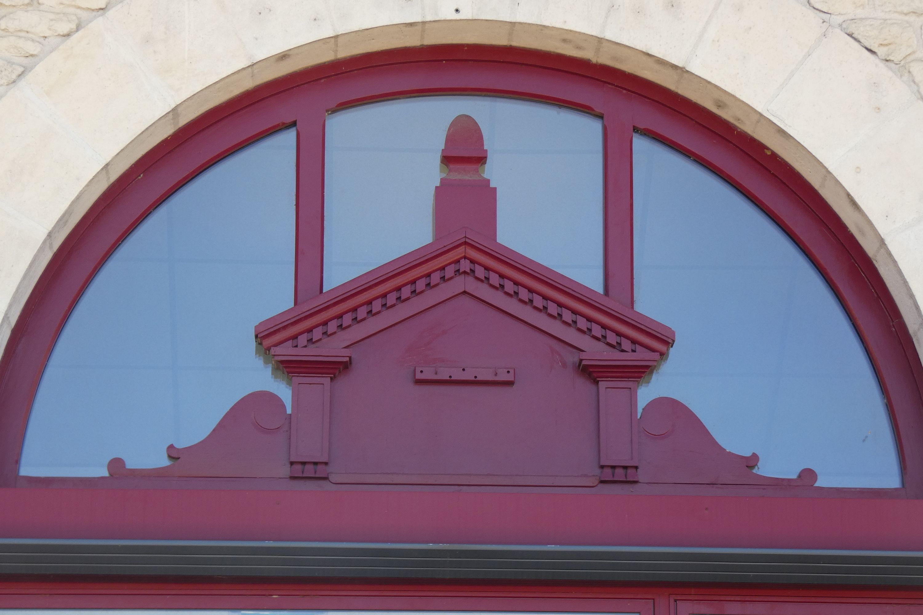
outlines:
[{"label": "pale cream stone arch curving around the red window frame", "polygon": [[845,220],[923,349],[923,101],[796,0],[125,0],[0,99],[0,344],[80,216],[181,125],[310,65],[442,43],[611,65],[760,139]]}]

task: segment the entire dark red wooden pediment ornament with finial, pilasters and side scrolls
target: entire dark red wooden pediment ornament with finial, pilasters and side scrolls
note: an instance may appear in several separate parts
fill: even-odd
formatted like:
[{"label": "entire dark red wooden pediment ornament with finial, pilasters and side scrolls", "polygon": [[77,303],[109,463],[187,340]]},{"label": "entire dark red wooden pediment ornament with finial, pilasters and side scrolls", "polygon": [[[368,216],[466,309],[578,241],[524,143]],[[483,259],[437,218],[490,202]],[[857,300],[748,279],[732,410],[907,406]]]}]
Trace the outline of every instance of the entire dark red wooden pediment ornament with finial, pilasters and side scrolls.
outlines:
[{"label": "entire dark red wooden pediment ornament with finial, pilasters and side scrolls", "polygon": [[[639,420],[638,384],[675,334],[496,241],[473,118],[450,125],[436,240],[256,326],[292,378],[291,415],[244,397],[172,466],[117,476],[343,484],[810,485],[761,477],[677,400]],[[282,413],[282,414],[280,414]]]}]

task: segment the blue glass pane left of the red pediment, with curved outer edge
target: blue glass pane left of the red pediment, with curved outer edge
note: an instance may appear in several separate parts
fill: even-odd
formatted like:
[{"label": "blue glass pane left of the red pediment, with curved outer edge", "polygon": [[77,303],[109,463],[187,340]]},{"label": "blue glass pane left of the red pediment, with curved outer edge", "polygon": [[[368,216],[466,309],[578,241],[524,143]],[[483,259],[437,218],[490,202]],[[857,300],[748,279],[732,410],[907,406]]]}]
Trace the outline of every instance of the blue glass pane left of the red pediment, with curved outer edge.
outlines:
[{"label": "blue glass pane left of the red pediment, with curved outer edge", "polygon": [[202,171],[119,245],[42,373],[21,474],[162,466],[247,393],[287,402],[253,326],[293,303],[294,170],[288,128]]}]

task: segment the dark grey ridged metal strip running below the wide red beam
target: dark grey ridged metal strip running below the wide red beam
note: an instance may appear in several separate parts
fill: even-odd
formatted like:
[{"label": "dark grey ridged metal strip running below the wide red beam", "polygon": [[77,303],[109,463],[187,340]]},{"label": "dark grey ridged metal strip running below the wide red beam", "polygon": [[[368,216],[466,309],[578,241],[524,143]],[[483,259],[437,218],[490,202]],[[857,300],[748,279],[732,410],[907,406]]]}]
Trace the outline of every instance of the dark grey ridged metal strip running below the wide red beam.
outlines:
[{"label": "dark grey ridged metal strip running below the wide red beam", "polygon": [[923,585],[923,552],[0,538],[0,574]]}]

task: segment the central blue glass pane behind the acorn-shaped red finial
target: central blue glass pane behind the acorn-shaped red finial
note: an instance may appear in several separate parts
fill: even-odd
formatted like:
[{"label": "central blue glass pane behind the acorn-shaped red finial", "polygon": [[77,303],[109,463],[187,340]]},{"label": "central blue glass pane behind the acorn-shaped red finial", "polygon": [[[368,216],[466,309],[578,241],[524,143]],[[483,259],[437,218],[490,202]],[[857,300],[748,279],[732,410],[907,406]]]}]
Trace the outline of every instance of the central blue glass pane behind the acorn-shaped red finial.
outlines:
[{"label": "central blue glass pane behind the acorn-shaped red finial", "polygon": [[532,101],[437,96],[330,114],[324,290],[433,241],[446,129],[481,125],[497,187],[497,240],[603,291],[603,123]]}]

